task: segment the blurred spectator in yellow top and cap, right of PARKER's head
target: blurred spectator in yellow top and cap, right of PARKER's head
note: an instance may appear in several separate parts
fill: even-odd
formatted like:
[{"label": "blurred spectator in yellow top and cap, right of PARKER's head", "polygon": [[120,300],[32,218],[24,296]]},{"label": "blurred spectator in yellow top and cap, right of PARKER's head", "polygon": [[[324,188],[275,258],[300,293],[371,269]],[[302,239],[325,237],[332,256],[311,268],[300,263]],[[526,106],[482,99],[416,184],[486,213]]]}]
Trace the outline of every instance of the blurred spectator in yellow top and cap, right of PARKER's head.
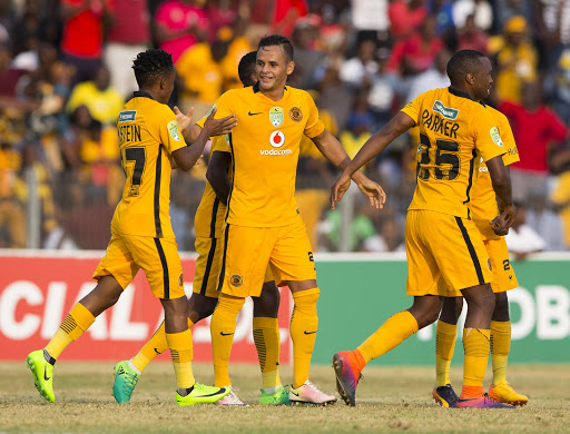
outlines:
[{"label": "blurred spectator in yellow top and cap, right of PARKER's head", "polygon": [[502,36],[489,42],[489,53],[497,65],[493,87],[499,101],[519,103],[522,86],[537,79],[538,56],[527,40],[529,29],[524,17],[512,17],[503,30]]}]

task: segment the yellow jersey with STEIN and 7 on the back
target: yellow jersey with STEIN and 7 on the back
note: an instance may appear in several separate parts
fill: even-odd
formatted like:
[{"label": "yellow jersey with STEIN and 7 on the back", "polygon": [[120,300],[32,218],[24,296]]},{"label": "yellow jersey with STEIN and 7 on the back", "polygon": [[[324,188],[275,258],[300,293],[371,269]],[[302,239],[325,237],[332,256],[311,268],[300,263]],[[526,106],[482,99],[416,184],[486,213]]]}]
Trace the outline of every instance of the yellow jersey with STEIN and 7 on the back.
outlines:
[{"label": "yellow jersey with STEIN and 7 on the back", "polygon": [[174,237],[171,154],[186,142],[173,110],[137,91],[120,111],[117,129],[127,180],[111,225],[124,234]]}]

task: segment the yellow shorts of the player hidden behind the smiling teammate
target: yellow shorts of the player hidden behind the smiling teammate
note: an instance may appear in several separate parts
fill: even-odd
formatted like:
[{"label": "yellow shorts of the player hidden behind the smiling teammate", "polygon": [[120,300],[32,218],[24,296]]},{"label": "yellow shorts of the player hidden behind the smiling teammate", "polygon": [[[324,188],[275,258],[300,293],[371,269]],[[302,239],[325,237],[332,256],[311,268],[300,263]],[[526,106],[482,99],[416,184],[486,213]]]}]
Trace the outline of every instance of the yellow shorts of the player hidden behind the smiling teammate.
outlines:
[{"label": "yellow shorts of the player hidden behind the smiling teammate", "polygon": [[[194,274],[193,292],[210,298],[218,298],[219,268],[222,267],[222,253],[224,238],[196,237],[194,244],[198,258]],[[267,264],[263,283],[273,280],[273,273]]]}]

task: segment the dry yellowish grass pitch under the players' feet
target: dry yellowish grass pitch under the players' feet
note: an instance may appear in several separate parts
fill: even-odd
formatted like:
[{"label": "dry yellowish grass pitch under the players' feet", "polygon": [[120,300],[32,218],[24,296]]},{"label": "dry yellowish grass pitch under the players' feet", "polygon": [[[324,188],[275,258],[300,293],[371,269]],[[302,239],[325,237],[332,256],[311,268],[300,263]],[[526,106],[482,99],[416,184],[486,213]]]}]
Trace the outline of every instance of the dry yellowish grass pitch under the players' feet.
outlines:
[{"label": "dry yellowish grass pitch under the players' feet", "polygon": [[[213,384],[210,365],[195,364],[194,371],[199,382]],[[342,400],[327,407],[259,406],[261,375],[253,365],[230,366],[238,396],[250,404],[247,408],[177,407],[167,363],[147,368],[126,405],[116,404],[110,394],[112,363],[62,361],[53,374],[56,403],[48,404],[23,362],[0,363],[0,433],[570,432],[569,365],[510,365],[509,381],[530,397],[529,405],[514,411],[441,408],[431,397],[432,367],[366,367],[356,407]],[[283,367],[282,381],[291,374],[291,367]],[[461,374],[461,367],[452,369],[458,389]],[[326,392],[335,388],[331,366],[313,366],[312,381]]]}]

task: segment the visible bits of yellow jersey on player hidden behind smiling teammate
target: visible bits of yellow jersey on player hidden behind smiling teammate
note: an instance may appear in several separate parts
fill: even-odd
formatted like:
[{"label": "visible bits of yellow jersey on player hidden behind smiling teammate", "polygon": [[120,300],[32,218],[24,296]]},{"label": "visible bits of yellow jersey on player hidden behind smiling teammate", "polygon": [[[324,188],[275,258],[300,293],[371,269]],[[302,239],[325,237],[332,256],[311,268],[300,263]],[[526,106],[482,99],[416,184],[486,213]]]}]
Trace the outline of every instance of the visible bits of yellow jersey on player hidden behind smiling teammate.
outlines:
[{"label": "visible bits of yellow jersey on player hidden behind smiling teammate", "polygon": [[[198,125],[204,127],[204,120]],[[227,136],[217,136],[212,142],[210,157],[215,151],[229,152],[229,145],[227,144]],[[232,166],[229,166],[229,178],[232,179]],[[194,230],[197,237],[204,238],[220,238],[222,226],[226,216],[226,204],[223,204],[210,184],[206,180],[206,188],[202,195],[200,205],[196,210],[194,217]]]}]

